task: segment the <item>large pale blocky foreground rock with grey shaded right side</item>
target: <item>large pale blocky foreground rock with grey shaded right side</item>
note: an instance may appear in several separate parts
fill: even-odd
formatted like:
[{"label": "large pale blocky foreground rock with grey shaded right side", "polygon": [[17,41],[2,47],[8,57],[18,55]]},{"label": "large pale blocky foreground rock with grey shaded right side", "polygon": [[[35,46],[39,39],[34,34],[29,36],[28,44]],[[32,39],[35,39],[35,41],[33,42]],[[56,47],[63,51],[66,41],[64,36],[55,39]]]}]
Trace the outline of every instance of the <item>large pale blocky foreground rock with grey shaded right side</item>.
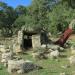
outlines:
[{"label": "large pale blocky foreground rock with grey shaded right side", "polygon": [[17,72],[18,74],[27,73],[35,69],[42,69],[42,67],[33,64],[32,61],[20,60],[9,60],[8,61],[8,72]]}]

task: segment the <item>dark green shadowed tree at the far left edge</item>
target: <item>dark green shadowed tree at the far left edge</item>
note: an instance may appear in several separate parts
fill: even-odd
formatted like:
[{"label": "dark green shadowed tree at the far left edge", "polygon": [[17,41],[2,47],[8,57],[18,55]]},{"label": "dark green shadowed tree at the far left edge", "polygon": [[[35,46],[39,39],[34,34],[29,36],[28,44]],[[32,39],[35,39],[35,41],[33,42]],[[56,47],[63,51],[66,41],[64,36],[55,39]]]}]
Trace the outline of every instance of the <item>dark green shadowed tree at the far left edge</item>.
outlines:
[{"label": "dark green shadowed tree at the far left edge", "polygon": [[0,28],[2,29],[2,34],[4,36],[12,35],[12,24],[17,17],[16,12],[12,7],[2,2],[0,2],[0,9]]}]

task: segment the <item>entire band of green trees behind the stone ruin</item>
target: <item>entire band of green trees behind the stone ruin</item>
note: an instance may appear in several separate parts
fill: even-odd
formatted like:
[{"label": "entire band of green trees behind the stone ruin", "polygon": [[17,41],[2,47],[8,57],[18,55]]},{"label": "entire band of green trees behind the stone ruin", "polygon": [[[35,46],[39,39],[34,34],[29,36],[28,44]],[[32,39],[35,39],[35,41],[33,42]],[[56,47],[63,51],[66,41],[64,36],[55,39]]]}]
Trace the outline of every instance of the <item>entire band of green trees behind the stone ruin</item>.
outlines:
[{"label": "entire band of green trees behind the stone ruin", "polygon": [[[0,29],[4,35],[22,26],[36,31],[45,29],[53,34],[63,32],[75,18],[74,0],[33,0],[32,5],[15,9],[0,2]],[[75,29],[75,27],[74,27]]]}]

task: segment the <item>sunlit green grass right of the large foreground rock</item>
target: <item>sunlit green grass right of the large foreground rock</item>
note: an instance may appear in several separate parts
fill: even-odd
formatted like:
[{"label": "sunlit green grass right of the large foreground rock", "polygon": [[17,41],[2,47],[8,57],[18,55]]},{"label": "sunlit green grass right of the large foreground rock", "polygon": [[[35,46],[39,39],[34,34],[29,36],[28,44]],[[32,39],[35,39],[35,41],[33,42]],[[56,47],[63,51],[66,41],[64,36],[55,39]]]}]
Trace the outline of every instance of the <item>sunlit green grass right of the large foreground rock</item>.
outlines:
[{"label": "sunlit green grass right of the large foreground rock", "polygon": [[[69,49],[66,50],[65,55],[70,56],[70,52]],[[31,55],[22,55],[21,57],[23,57],[24,59],[29,58],[30,60],[32,59]],[[63,69],[61,68],[61,66],[65,66],[67,64],[69,64],[67,58],[59,58],[59,61],[56,60],[51,60],[51,59],[46,59],[46,60],[39,60],[39,61],[35,61],[33,60],[36,64],[39,64],[41,66],[43,66],[42,70],[35,70],[32,72],[29,72],[25,75],[59,75],[61,72],[66,72],[67,74],[71,75],[72,71],[75,70],[75,67],[70,67],[67,69]]]}]

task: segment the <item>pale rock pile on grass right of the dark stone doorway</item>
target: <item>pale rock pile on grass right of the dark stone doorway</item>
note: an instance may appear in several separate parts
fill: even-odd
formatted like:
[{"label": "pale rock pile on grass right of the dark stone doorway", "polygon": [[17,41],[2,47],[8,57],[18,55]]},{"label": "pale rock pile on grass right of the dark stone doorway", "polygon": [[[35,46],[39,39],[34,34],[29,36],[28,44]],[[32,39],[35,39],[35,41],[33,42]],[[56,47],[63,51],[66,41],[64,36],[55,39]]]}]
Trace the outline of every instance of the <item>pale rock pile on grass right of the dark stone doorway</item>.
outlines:
[{"label": "pale rock pile on grass right of the dark stone doorway", "polygon": [[60,52],[63,52],[64,48],[54,44],[43,44],[40,48],[37,48],[35,52],[32,53],[33,58],[58,58]]}]

